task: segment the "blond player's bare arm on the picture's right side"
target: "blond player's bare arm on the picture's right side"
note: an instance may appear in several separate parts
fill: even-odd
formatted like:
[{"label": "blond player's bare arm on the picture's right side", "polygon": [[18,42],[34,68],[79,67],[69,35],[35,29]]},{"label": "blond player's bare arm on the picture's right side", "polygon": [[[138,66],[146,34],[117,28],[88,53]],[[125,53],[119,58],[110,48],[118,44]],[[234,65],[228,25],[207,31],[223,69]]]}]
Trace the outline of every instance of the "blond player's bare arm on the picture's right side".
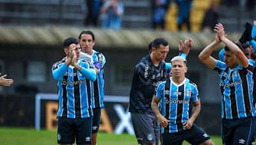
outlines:
[{"label": "blond player's bare arm on the picture's right side", "polygon": [[191,113],[191,117],[183,123],[183,128],[184,129],[190,129],[193,126],[194,121],[196,120],[196,117],[200,113],[201,110],[201,104],[200,104],[200,99],[198,99],[196,102],[193,102],[193,109]]}]

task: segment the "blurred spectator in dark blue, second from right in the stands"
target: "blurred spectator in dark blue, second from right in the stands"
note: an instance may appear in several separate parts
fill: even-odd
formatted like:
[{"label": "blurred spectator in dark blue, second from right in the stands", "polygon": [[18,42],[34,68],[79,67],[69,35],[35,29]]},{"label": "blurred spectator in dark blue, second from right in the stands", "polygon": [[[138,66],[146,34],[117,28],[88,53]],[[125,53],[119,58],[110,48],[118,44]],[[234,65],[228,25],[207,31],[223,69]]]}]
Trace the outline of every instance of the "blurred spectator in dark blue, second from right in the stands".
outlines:
[{"label": "blurred spectator in dark blue, second from right in the stands", "polygon": [[186,24],[187,30],[190,31],[189,15],[192,7],[192,0],[175,0],[178,6],[178,29],[181,30],[181,25]]}]

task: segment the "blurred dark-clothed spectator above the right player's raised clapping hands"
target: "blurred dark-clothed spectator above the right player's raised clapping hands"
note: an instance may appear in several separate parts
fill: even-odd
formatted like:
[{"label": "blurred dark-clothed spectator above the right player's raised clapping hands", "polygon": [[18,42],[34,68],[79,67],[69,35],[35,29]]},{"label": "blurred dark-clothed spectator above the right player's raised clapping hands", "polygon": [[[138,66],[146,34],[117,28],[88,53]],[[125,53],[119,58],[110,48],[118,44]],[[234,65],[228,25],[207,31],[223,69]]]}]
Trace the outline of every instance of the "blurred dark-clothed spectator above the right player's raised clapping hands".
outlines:
[{"label": "blurred dark-clothed spectator above the right player's raised clapping hands", "polygon": [[204,16],[204,21],[202,24],[202,31],[211,32],[213,31],[216,24],[218,24],[219,15],[216,11],[216,3],[215,1],[211,2],[211,6],[209,10],[206,11]]}]

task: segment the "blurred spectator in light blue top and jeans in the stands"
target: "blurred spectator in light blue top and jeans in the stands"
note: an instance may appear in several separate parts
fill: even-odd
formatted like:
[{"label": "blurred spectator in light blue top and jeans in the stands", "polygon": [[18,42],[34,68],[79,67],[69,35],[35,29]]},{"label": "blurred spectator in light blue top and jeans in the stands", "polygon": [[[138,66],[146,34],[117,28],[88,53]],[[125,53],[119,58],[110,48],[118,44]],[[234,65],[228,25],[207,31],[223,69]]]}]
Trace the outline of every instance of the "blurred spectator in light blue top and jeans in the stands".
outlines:
[{"label": "blurred spectator in light blue top and jeans in the stands", "polygon": [[124,14],[124,4],[118,0],[108,0],[104,3],[101,10],[102,28],[119,30],[122,24],[122,15]]}]

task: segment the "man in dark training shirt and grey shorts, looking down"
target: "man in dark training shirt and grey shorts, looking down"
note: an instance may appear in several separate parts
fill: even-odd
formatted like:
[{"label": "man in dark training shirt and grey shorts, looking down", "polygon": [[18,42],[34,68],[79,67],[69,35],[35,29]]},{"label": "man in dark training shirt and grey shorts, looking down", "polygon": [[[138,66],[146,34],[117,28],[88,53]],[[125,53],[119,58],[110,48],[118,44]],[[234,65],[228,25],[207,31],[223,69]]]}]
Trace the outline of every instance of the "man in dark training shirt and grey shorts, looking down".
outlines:
[{"label": "man in dark training shirt and grey shorts, looking down", "polygon": [[[182,44],[183,49],[188,46],[191,45]],[[151,101],[157,85],[166,78],[164,59],[168,52],[166,39],[154,39],[151,53],[143,57],[134,70],[129,112],[139,144],[159,143],[159,122],[152,112]]]}]

